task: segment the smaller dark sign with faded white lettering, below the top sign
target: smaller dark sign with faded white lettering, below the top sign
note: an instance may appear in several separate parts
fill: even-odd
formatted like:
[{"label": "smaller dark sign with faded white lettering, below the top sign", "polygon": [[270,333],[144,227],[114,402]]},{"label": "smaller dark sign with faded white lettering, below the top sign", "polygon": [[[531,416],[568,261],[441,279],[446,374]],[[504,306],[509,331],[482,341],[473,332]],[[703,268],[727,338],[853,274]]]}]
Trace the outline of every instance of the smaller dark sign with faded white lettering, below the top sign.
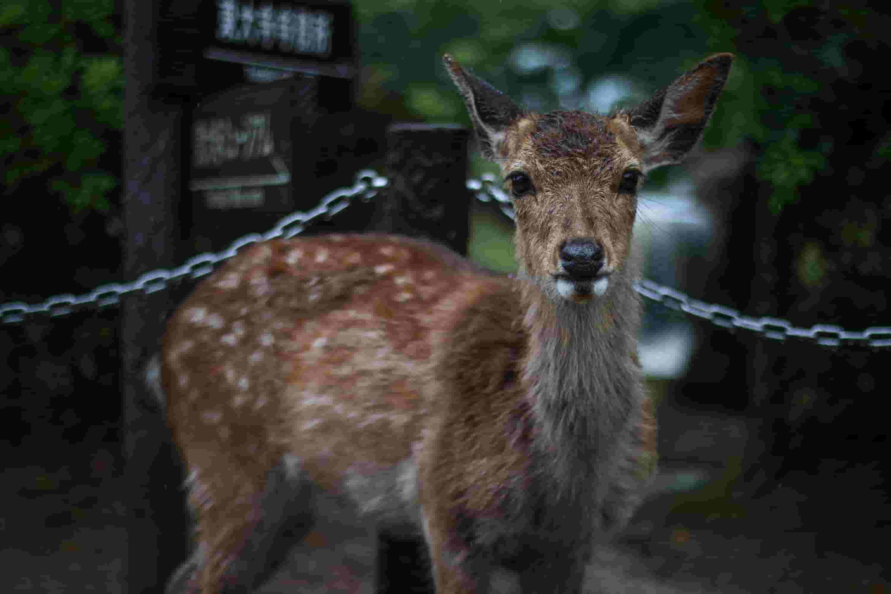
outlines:
[{"label": "smaller dark sign with faded white lettering, below the top sign", "polygon": [[319,118],[317,88],[317,78],[297,76],[241,85],[195,107],[188,183],[196,248],[220,248],[295,209],[293,182],[311,175],[315,160],[295,159],[294,148]]}]

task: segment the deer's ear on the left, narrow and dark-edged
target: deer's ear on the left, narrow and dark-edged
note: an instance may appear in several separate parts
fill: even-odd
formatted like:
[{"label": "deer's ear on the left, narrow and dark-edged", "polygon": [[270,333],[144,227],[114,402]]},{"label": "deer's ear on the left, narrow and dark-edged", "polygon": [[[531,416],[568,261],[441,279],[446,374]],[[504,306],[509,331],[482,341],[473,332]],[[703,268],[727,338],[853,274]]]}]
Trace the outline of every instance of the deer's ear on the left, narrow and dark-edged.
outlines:
[{"label": "deer's ear on the left, narrow and dark-edged", "polygon": [[467,103],[483,156],[495,159],[508,126],[520,117],[522,110],[494,86],[462,69],[449,54],[443,56],[443,62]]}]

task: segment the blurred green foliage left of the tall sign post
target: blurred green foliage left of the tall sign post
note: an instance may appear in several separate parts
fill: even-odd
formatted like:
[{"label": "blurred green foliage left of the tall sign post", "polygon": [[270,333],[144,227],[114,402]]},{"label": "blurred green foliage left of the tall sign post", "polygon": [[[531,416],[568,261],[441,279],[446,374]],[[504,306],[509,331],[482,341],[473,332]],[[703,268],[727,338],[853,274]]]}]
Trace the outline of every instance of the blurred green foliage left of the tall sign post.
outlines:
[{"label": "blurred green foliage left of the tall sign post", "polygon": [[[0,157],[7,194],[45,180],[75,211],[118,186],[124,77],[113,0],[8,0],[0,8]],[[40,198],[38,198],[40,199]]]}]

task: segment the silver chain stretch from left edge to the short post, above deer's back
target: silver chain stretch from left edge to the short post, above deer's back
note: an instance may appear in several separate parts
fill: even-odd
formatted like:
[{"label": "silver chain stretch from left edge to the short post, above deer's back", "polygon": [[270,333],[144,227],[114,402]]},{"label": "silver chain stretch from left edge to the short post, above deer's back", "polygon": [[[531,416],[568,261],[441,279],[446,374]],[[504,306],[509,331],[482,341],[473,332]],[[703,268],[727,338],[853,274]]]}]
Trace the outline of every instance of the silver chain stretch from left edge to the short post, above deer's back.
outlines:
[{"label": "silver chain stretch from left edge to the short post, above deer's back", "polygon": [[386,186],[388,180],[381,177],[372,169],[363,169],[356,174],[356,183],[347,188],[339,188],[326,195],[319,204],[307,212],[294,212],[285,216],[281,221],[265,233],[249,233],[234,240],[228,248],[217,253],[206,252],[198,256],[192,256],[185,264],[172,269],[160,268],[150,273],[144,273],[138,279],[128,283],[111,282],[85,293],[84,295],[56,295],[46,299],[42,303],[29,305],[21,301],[14,301],[0,305],[0,323],[14,323],[23,321],[26,315],[45,313],[51,316],[67,315],[87,305],[94,307],[109,307],[117,305],[122,295],[141,291],[148,295],[166,289],[186,277],[197,279],[205,274],[212,273],[214,266],[223,260],[231,258],[238,250],[257,241],[272,240],[277,237],[290,238],[304,232],[308,225],[322,218],[330,218],[349,206],[352,199],[372,199],[377,191]]}]

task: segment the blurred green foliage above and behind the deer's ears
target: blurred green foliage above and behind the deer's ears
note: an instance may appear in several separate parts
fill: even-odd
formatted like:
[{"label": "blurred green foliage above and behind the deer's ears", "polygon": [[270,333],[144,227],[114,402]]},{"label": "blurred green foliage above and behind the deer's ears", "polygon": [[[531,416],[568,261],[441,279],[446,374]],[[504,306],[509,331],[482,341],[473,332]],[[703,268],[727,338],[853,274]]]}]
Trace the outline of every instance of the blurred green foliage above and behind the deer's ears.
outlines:
[{"label": "blurred green foliage above and behind the deer's ears", "polygon": [[[887,48],[881,40],[891,24],[877,9],[820,0],[357,0],[356,9],[369,83],[364,105],[399,94],[410,113],[431,121],[470,125],[439,66],[442,53],[537,110],[605,110],[598,92],[610,79],[624,93],[613,104],[634,103],[708,53],[736,53],[703,143],[747,140],[774,213],[834,173],[833,126],[846,126],[833,109],[838,89],[855,84],[864,52]],[[874,148],[882,162],[889,138]],[[650,187],[670,175],[654,172]]]}]

